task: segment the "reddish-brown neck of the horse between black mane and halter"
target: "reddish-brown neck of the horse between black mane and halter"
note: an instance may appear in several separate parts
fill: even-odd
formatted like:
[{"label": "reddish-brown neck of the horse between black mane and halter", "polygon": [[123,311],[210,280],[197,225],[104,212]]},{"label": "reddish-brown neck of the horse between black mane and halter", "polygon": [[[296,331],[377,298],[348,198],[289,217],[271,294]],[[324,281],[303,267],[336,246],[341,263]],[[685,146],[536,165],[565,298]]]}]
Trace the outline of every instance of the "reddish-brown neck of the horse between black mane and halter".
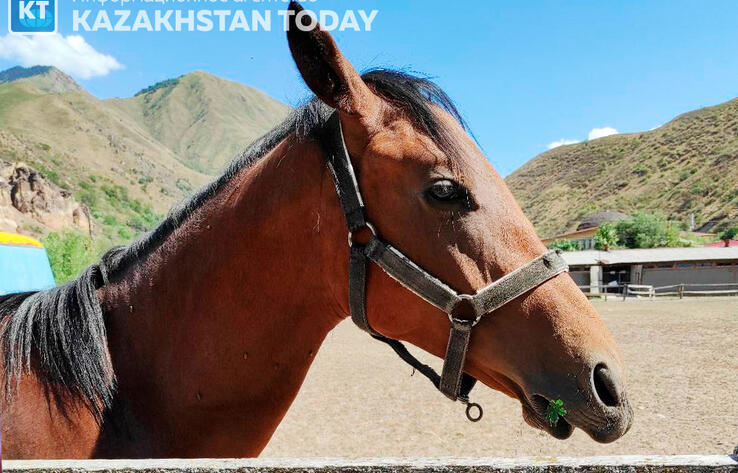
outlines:
[{"label": "reddish-brown neck of the horse between black mane and halter", "polygon": [[[258,454],[340,321],[321,256],[341,238],[320,222],[326,175],[316,145],[288,138],[105,292],[120,398],[190,454]],[[208,448],[229,429],[240,450]]]}]

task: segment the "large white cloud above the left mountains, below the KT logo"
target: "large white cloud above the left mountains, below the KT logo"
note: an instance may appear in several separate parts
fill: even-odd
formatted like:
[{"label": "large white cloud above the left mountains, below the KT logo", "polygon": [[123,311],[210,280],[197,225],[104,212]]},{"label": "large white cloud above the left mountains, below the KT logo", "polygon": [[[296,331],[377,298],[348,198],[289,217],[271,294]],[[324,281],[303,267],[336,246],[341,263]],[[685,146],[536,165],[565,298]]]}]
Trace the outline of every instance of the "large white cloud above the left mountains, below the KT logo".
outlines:
[{"label": "large white cloud above the left mountains, below the KT logo", "polygon": [[89,79],[104,76],[123,66],[113,57],[97,52],[82,36],[0,36],[0,59],[28,67],[56,66],[67,74]]}]

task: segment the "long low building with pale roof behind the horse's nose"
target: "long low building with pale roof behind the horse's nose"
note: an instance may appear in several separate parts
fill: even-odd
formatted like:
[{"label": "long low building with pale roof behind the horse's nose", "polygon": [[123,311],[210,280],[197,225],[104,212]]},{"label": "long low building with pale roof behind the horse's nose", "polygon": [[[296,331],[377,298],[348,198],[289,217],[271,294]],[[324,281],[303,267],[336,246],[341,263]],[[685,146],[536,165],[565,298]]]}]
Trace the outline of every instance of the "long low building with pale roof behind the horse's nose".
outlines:
[{"label": "long low building with pale roof behind the horse's nose", "polygon": [[738,246],[586,250],[564,253],[580,287],[738,284]]}]

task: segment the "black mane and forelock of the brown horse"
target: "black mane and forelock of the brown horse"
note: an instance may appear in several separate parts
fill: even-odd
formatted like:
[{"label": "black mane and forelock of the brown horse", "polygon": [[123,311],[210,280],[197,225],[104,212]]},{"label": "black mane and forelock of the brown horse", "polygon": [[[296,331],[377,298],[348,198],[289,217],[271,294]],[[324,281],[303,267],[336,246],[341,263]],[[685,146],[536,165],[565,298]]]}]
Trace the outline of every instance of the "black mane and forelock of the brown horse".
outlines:
[{"label": "black mane and forelock of the brown horse", "polygon": [[[451,99],[426,77],[375,69],[362,75],[375,93],[392,104],[415,128],[451,154],[451,133],[434,108],[466,124]],[[105,314],[96,290],[145,262],[208,199],[218,194],[242,169],[295,133],[298,141],[319,140],[333,109],[312,98],[279,126],[250,145],[215,181],[173,207],[152,231],[130,245],[115,247],[82,275],[56,288],[0,297],[0,356],[4,359],[5,396],[9,400],[24,373],[34,372],[56,400],[81,401],[98,422],[112,406],[115,373],[107,346]]]}]

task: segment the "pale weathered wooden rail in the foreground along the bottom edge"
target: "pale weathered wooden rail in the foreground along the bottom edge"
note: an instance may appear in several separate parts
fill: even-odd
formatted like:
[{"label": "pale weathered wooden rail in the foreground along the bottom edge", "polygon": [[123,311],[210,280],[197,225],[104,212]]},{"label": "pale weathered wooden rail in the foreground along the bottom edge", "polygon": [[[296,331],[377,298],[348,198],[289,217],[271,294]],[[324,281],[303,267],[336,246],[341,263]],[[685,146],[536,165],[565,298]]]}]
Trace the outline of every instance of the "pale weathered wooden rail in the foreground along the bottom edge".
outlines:
[{"label": "pale weathered wooden rail in the foreground along the bottom edge", "polygon": [[735,455],[469,459],[48,460],[6,473],[738,473]]}]

